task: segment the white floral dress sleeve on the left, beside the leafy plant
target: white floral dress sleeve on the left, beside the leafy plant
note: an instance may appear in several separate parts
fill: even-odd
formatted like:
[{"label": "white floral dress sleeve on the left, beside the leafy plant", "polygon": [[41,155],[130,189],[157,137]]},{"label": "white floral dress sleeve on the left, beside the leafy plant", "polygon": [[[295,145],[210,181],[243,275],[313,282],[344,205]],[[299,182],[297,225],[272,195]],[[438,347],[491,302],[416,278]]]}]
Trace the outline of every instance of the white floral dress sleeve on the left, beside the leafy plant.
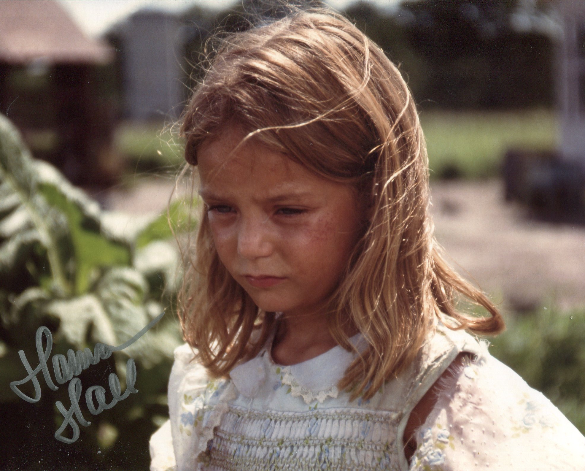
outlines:
[{"label": "white floral dress sleeve on the left, beside the leafy plant", "polygon": [[193,397],[205,390],[208,376],[205,368],[192,362],[194,355],[187,343],[174,351],[173,369],[168,379],[169,420],[150,438],[150,471],[175,471],[176,457],[180,459],[194,437],[184,426],[193,424],[193,413],[185,404],[194,402]]}]

